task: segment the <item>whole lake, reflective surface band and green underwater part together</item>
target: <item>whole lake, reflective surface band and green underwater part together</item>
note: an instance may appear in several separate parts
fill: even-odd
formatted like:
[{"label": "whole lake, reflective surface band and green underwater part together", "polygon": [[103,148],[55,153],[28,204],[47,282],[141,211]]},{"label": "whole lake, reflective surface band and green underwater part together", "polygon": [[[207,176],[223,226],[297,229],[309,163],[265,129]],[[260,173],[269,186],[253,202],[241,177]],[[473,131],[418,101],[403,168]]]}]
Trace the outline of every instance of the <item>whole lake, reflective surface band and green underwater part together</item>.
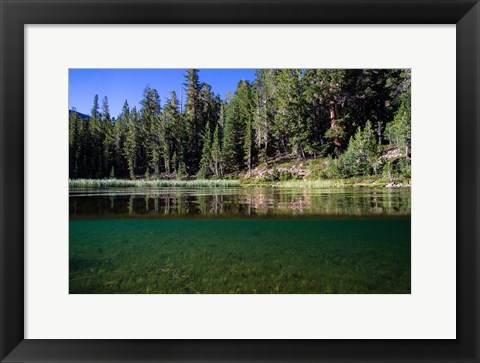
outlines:
[{"label": "whole lake, reflective surface band and green underwater part together", "polygon": [[71,191],[70,293],[410,293],[410,225],[409,189]]}]

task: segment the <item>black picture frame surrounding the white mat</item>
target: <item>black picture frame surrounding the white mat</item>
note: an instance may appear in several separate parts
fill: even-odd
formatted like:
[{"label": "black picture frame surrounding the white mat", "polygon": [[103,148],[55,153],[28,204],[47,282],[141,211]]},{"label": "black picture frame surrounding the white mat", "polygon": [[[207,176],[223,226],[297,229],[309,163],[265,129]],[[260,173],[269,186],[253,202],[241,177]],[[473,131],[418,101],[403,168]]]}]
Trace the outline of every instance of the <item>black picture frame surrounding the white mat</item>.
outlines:
[{"label": "black picture frame surrounding the white mat", "polygon": [[[0,0],[0,14],[2,362],[480,361],[478,0]],[[24,339],[24,26],[158,23],[456,24],[457,339]]]}]

